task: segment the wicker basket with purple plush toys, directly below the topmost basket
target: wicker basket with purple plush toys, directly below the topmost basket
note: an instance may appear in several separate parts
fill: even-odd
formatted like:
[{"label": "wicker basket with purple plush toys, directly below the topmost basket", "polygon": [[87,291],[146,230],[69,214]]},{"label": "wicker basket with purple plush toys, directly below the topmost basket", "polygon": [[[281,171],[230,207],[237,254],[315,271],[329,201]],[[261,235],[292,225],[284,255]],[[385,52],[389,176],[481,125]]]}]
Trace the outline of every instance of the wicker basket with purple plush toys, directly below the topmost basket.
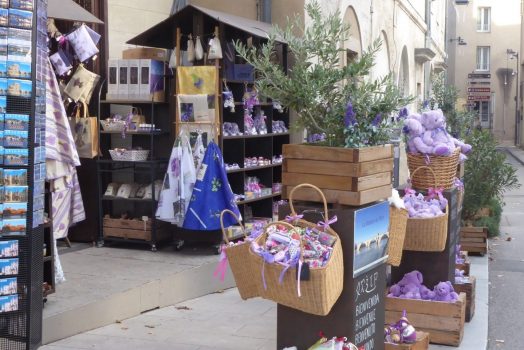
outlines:
[{"label": "wicker basket with purple plush toys, directly below the topmost basket", "polygon": [[[436,178],[433,169],[427,166],[415,169],[413,175],[417,174],[420,170],[425,170]],[[433,186],[435,186],[434,182]],[[431,187],[431,185],[428,187]],[[446,206],[445,213],[441,216],[434,218],[408,218],[404,250],[421,252],[443,251],[446,248],[446,239],[448,236],[448,217],[449,208]]]}]

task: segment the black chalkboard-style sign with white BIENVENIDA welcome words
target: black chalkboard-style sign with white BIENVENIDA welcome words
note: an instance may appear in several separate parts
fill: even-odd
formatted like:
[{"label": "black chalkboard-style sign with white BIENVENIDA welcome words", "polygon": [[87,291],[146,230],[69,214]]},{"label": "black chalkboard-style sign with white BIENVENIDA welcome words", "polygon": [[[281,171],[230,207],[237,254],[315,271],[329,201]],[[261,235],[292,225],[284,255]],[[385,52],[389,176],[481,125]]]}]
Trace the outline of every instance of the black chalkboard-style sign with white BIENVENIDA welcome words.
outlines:
[{"label": "black chalkboard-style sign with white BIENVENIDA welcome words", "polygon": [[[387,202],[386,202],[387,203]],[[353,343],[364,350],[383,349],[386,268],[381,264],[354,281]]]}]

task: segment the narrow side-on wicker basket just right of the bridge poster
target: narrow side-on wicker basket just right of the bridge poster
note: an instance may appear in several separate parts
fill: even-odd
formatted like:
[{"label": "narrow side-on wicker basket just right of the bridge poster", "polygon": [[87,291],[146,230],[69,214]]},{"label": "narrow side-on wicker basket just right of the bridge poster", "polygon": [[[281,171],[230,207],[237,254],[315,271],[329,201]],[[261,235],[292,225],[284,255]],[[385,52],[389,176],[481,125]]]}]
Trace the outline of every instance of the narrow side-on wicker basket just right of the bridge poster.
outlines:
[{"label": "narrow side-on wicker basket just right of the bridge poster", "polygon": [[408,211],[406,209],[389,207],[388,264],[390,265],[400,265],[407,223]]}]

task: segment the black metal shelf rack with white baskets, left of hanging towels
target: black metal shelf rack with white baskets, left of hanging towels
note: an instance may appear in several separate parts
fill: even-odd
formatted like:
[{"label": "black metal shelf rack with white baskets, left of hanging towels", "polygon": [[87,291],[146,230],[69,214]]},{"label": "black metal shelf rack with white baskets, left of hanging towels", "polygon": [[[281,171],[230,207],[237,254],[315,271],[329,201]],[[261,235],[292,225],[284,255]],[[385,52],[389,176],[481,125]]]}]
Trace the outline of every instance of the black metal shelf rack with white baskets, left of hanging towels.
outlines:
[{"label": "black metal shelf rack with white baskets, left of hanging towels", "polygon": [[[156,198],[156,180],[163,180],[169,160],[169,151],[172,143],[170,140],[170,120],[166,116],[169,113],[167,102],[143,101],[143,100],[100,100],[98,117],[100,120],[109,116],[109,106],[130,105],[142,107],[146,114],[147,122],[156,125],[151,131],[128,131],[125,137],[131,139],[133,146],[141,146],[149,149],[149,157],[145,161],[119,161],[109,157],[108,149],[111,147],[112,139],[121,138],[121,131],[104,131],[99,129],[99,140],[102,156],[97,160],[98,174],[98,198],[99,198],[99,243],[101,246],[107,242],[115,243],[138,243],[149,244],[152,251],[157,250],[157,243],[170,240],[167,230],[159,230],[160,224],[155,218],[158,198]],[[158,116],[157,116],[158,114]],[[151,198],[121,198],[116,196],[105,196],[106,187],[113,182],[115,174],[133,174],[135,181],[148,182],[152,184]],[[132,234],[116,236],[104,227],[104,216],[111,214],[118,217],[129,211],[133,216],[147,216],[151,222],[151,235],[138,238]],[[145,230],[145,225],[144,225]]]}]

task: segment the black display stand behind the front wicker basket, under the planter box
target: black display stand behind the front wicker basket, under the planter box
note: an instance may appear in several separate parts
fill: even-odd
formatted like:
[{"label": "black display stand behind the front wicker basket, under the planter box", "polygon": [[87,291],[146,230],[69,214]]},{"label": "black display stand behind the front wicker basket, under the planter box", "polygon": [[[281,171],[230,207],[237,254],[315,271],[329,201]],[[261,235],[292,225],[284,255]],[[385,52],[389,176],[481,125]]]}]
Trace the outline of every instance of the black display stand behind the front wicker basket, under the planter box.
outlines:
[{"label": "black display stand behind the front wicker basket, under the planter box", "polygon": [[[329,211],[338,221],[331,225],[340,236],[344,255],[344,289],[327,316],[316,316],[282,305],[277,308],[277,349],[296,346],[306,350],[318,339],[318,333],[326,337],[344,336],[361,350],[384,350],[384,319],[386,265],[380,263],[353,277],[355,251],[355,212],[375,204],[342,207]],[[305,212],[304,212],[305,211]],[[311,222],[322,220],[321,208],[297,207],[304,212],[304,219]],[[281,207],[279,216],[289,214],[289,207]]]}]

